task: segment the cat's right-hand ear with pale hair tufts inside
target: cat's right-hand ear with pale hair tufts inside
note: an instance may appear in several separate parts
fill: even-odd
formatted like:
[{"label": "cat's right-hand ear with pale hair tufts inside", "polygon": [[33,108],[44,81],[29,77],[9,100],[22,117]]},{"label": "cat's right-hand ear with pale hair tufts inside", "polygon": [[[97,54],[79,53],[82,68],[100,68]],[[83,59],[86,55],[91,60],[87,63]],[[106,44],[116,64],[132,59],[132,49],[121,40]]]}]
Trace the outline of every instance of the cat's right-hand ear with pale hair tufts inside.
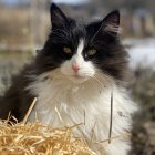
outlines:
[{"label": "cat's right-hand ear with pale hair tufts inside", "polygon": [[102,29],[112,35],[116,35],[120,32],[120,11],[115,10],[107,14],[102,21]]}]

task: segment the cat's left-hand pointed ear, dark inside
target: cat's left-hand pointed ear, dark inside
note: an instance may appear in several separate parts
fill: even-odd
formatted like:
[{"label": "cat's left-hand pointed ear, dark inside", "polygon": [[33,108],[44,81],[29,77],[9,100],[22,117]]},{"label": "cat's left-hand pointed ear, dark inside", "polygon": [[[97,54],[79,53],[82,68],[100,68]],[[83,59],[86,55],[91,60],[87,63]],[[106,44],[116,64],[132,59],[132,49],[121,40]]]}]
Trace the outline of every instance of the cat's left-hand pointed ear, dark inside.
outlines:
[{"label": "cat's left-hand pointed ear, dark inside", "polygon": [[66,24],[68,18],[55,3],[51,4],[50,13],[51,13],[52,30],[62,28]]}]

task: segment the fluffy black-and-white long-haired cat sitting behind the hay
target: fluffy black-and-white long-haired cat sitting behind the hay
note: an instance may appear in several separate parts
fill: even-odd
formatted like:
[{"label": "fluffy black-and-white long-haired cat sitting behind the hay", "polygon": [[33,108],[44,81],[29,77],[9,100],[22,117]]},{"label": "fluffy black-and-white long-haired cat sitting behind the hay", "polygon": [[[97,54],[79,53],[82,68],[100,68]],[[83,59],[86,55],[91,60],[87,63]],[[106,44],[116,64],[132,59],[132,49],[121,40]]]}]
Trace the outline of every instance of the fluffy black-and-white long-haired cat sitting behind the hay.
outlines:
[{"label": "fluffy black-and-white long-haired cat sitting behind the hay", "polygon": [[[29,121],[52,126],[83,123],[74,130],[97,154],[126,155],[135,103],[126,91],[128,54],[121,44],[120,12],[102,20],[75,20],[54,3],[50,9],[52,30],[34,60],[12,79],[0,99],[0,118],[9,112],[22,121],[34,97],[37,105]],[[113,102],[112,102],[113,101]],[[113,113],[111,113],[113,103]]]}]

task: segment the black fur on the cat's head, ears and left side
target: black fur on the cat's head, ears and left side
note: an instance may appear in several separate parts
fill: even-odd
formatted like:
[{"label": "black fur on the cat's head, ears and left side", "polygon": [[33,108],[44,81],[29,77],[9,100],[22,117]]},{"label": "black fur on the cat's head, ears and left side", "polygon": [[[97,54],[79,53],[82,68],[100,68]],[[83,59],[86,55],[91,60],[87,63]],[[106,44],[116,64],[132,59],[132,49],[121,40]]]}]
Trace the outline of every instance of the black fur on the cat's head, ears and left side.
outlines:
[{"label": "black fur on the cat's head, ears and left side", "polygon": [[[91,23],[76,21],[66,17],[54,3],[51,6],[52,30],[42,50],[34,61],[12,81],[12,86],[0,99],[0,118],[7,118],[9,112],[19,121],[23,118],[34,96],[25,90],[38,76],[44,72],[59,68],[62,62],[72,58],[81,38],[85,39],[83,56],[92,61],[104,73],[116,81],[125,81],[127,69],[127,53],[118,40],[120,13],[113,11],[103,20]],[[65,54],[64,46],[72,49],[71,55]],[[87,55],[89,49],[96,49],[96,54]],[[32,79],[31,79],[32,78]]]}]

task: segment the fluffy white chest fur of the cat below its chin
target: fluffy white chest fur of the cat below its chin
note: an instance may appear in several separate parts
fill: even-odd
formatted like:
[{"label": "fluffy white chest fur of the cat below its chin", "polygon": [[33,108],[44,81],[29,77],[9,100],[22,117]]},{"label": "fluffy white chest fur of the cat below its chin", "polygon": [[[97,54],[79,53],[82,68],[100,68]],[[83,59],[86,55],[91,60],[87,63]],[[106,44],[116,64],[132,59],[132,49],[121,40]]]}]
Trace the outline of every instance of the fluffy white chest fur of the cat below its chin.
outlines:
[{"label": "fluffy white chest fur of the cat below its chin", "polygon": [[[123,134],[131,128],[131,114],[135,111],[134,103],[127,97],[125,90],[116,85],[99,87],[90,82],[75,85],[70,81],[48,79],[43,76],[29,85],[31,93],[38,96],[38,103],[30,120],[37,112],[42,123],[52,126],[64,126],[83,123],[75,134],[83,135],[87,142],[107,140],[110,131],[111,94],[113,90],[113,130],[112,136]],[[92,132],[93,131],[93,132]],[[114,140],[111,144],[89,144],[102,155],[102,147],[107,155],[125,155],[130,148],[124,138]]]}]

